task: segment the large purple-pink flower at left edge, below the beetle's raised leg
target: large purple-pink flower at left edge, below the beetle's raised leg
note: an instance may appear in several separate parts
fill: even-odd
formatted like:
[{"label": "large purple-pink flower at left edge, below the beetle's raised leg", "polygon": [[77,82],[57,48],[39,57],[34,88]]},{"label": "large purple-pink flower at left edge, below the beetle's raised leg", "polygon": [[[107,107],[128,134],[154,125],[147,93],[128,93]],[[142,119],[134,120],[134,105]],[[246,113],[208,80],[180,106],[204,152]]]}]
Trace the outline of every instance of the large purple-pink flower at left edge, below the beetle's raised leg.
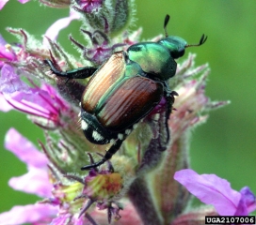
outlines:
[{"label": "large purple-pink flower at left edge, below the beetle's raised leg", "polygon": [[[60,126],[61,116],[68,112],[68,105],[57,96],[56,89],[48,84],[30,87],[22,82],[14,68],[2,67],[0,91],[13,108],[28,113],[32,121],[43,128]],[[3,110],[5,110],[4,108]]]}]

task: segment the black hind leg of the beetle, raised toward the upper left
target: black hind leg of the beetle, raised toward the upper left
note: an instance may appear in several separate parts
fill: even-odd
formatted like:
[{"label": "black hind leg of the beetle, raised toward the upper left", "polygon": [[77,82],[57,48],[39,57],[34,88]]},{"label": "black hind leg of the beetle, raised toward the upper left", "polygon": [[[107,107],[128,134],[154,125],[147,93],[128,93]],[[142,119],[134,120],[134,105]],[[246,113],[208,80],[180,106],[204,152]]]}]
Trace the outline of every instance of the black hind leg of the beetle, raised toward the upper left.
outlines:
[{"label": "black hind leg of the beetle, raised toward the upper left", "polygon": [[58,77],[64,77],[67,78],[68,82],[70,79],[85,79],[93,75],[93,73],[98,69],[96,67],[80,67],[76,69],[72,69],[70,71],[59,71],[54,63],[50,59],[45,59],[43,61],[45,64],[47,64],[49,67],[51,67],[51,70],[56,76]]}]

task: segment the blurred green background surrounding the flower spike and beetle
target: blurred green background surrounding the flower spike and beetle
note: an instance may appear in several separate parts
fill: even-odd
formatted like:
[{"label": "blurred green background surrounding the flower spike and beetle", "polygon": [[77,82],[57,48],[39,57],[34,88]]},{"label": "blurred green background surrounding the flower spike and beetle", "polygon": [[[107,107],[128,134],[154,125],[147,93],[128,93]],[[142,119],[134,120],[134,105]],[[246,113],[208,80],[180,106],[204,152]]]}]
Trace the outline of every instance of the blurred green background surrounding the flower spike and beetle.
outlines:
[{"label": "blurred green background surrounding the flower spike and beetle", "polygon": [[[197,52],[196,64],[209,63],[210,78],[206,94],[213,100],[232,101],[229,106],[210,113],[208,122],[191,135],[191,166],[198,173],[216,173],[228,179],[232,188],[248,186],[256,193],[256,1],[248,0],[159,0],[136,1],[136,27],[143,27],[142,38],[155,37],[163,32],[163,21],[171,17],[168,34],[184,37],[197,43],[202,34],[208,36]],[[57,19],[69,15],[68,9],[40,7],[36,1],[20,4],[10,0],[0,11],[0,33],[9,43],[17,41],[5,28],[24,28],[41,38]],[[58,41],[67,52],[77,57],[68,35],[76,39],[80,22],[72,22],[60,32]],[[187,53],[186,53],[187,55]],[[183,60],[183,59],[181,59]],[[37,144],[43,140],[40,128],[31,124],[22,113],[0,112],[0,212],[13,205],[34,203],[37,198],[8,187],[8,179],[26,173],[24,163],[4,148],[8,128],[18,129]],[[38,144],[37,144],[38,145]]]}]

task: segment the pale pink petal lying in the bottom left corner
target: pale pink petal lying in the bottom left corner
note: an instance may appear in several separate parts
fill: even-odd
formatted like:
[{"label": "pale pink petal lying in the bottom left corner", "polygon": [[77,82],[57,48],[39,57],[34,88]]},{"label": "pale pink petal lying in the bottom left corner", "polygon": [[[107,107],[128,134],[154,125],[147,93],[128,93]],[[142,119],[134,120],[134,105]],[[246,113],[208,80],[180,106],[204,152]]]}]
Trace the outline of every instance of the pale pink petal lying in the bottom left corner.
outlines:
[{"label": "pale pink petal lying in the bottom left corner", "polygon": [[14,206],[8,212],[0,214],[0,224],[47,224],[56,217],[57,211],[57,207],[50,204]]}]

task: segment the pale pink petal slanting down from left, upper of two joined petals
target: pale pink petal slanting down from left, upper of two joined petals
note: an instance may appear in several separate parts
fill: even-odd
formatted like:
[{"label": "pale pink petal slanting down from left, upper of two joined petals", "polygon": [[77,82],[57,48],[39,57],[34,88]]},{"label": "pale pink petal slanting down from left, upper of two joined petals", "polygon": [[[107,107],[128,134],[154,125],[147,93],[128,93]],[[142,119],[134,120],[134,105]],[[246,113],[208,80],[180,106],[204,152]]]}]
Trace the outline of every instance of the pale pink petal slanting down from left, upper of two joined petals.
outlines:
[{"label": "pale pink petal slanting down from left, upper of two joined petals", "polygon": [[47,166],[48,159],[14,128],[8,130],[5,138],[5,146],[29,166],[36,168]]}]

